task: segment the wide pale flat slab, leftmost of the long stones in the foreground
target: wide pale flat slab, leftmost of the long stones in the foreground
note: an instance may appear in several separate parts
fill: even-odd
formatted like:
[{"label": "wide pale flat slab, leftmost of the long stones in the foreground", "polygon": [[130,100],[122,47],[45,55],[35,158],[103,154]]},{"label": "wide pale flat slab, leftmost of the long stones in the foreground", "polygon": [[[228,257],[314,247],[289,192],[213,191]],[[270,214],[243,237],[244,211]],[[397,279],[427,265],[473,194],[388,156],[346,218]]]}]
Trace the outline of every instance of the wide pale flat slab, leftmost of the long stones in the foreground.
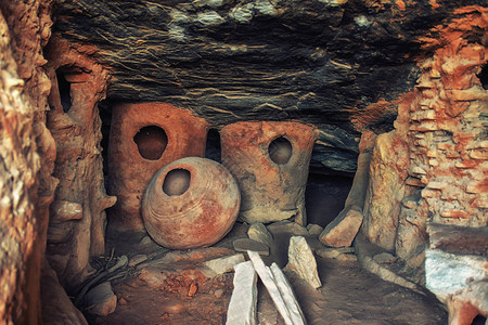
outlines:
[{"label": "wide pale flat slab, leftmost of the long stones in the foreground", "polygon": [[234,290],[229,302],[226,324],[255,325],[257,306],[256,271],[252,261],[239,263],[234,269]]}]

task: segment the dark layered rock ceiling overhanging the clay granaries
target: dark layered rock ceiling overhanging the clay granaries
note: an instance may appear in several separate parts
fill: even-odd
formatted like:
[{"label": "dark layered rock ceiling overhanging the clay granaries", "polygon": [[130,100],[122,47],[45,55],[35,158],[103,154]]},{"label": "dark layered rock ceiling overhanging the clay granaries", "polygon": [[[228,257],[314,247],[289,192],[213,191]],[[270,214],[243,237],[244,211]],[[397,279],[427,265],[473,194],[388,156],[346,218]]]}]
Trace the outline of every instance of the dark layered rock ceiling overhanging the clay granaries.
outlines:
[{"label": "dark layered rock ceiling overhanging the clay granaries", "polygon": [[[107,103],[168,102],[215,128],[299,119],[320,129],[311,167],[352,173],[355,120],[412,91],[420,39],[477,2],[57,0],[53,30],[98,49]],[[394,106],[365,127],[391,129]]]}]

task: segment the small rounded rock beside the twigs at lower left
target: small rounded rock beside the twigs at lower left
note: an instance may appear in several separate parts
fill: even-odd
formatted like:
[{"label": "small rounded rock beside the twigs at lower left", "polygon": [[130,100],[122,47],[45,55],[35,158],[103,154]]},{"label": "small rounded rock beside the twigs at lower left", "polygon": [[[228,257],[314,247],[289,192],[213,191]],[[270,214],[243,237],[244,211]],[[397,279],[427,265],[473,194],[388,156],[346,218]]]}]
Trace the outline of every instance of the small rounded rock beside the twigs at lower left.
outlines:
[{"label": "small rounded rock beside the twigs at lower left", "polygon": [[110,282],[104,282],[85,296],[85,306],[90,314],[106,316],[115,311],[117,296],[114,295]]}]

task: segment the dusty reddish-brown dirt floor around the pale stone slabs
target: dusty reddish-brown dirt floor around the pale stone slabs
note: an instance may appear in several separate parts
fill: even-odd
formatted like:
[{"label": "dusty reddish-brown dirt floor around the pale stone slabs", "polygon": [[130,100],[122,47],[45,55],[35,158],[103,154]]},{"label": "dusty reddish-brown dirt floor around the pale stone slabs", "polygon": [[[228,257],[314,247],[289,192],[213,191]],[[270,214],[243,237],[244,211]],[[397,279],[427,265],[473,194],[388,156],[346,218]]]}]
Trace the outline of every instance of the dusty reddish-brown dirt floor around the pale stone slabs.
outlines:
[{"label": "dusty reddish-brown dirt floor around the pale stone slabs", "polygon": [[[153,261],[113,281],[116,311],[91,323],[224,324],[233,274],[209,276],[201,262],[232,253],[232,239],[244,237],[246,225],[236,224],[216,247],[191,251],[168,251],[142,239],[138,253],[147,253]],[[274,247],[264,260],[284,266],[292,234],[272,234]],[[321,245],[312,237],[307,239],[312,248]],[[108,242],[108,246],[116,244],[116,253],[133,255],[129,242],[125,243]],[[382,281],[362,270],[354,257],[348,261],[317,257],[317,261],[323,283],[318,290],[287,274],[309,324],[447,324],[447,313],[435,298]],[[259,324],[284,324],[261,284],[258,317]]]}]

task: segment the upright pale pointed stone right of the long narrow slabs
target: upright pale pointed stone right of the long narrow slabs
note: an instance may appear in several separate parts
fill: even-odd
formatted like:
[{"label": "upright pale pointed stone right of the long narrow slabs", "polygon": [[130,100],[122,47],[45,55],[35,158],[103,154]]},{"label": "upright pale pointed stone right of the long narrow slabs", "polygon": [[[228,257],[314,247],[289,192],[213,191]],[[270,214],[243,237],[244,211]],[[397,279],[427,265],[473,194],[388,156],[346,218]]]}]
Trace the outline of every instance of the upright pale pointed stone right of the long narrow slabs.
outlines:
[{"label": "upright pale pointed stone right of the long narrow slabs", "polygon": [[295,272],[314,289],[322,286],[313,252],[307,240],[301,236],[290,238],[288,263],[285,270]]}]

